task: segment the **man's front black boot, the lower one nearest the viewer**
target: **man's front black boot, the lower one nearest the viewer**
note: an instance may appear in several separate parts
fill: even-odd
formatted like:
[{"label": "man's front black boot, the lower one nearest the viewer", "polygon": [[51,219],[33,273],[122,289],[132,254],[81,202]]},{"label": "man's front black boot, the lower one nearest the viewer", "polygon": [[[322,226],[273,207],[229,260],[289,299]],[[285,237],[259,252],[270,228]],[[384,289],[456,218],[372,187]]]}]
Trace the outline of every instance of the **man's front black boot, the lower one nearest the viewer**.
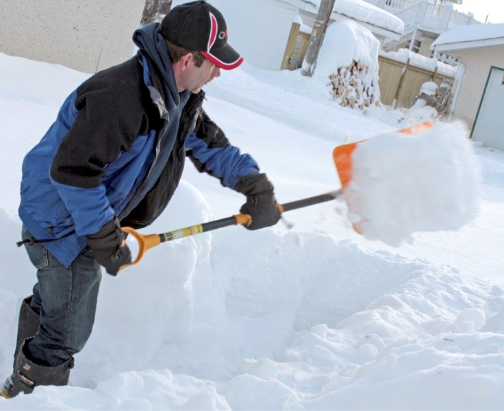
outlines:
[{"label": "man's front black boot, the lower one nearest the viewer", "polygon": [[16,397],[19,393],[31,393],[36,386],[64,386],[68,384],[73,357],[58,366],[38,365],[27,357],[27,344],[32,338],[21,343],[14,373],[3,384],[1,395],[5,398]]}]

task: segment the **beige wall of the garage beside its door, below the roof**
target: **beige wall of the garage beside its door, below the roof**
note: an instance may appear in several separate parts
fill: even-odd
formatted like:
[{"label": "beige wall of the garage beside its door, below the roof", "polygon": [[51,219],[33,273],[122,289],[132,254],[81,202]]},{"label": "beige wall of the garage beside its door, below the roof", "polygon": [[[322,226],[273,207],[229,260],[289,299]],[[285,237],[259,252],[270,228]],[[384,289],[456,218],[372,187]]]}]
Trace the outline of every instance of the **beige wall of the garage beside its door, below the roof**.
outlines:
[{"label": "beige wall of the garage beside its door, below the roof", "polygon": [[464,120],[472,129],[490,68],[504,67],[504,46],[462,50],[456,54],[466,67],[466,73],[453,114],[454,118]]}]

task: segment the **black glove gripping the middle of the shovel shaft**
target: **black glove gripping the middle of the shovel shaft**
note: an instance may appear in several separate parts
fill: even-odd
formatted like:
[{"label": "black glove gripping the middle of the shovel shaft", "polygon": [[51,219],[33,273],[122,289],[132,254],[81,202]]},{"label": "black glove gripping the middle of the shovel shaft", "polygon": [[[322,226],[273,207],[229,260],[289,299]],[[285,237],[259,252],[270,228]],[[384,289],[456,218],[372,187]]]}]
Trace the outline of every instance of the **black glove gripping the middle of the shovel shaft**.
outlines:
[{"label": "black glove gripping the middle of the shovel shaft", "polygon": [[266,174],[251,174],[238,180],[235,190],[247,196],[240,212],[249,214],[252,223],[247,225],[248,229],[260,229],[275,225],[280,219],[273,184],[268,180]]}]

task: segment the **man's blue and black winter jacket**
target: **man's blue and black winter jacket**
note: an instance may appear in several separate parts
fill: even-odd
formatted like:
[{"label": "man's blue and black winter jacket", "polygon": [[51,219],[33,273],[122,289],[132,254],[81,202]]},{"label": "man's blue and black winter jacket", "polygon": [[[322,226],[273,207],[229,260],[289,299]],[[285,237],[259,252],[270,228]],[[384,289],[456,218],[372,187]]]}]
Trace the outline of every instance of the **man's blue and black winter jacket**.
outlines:
[{"label": "man's blue and black winter jacket", "polygon": [[[123,226],[151,224],[177,188],[186,156],[229,188],[259,172],[205,114],[202,91],[181,97],[179,112],[164,105],[164,92],[140,51],[72,92],[26,155],[19,215],[36,239],[51,240],[43,244],[62,264],[116,216]],[[178,125],[170,133],[171,121]]]}]

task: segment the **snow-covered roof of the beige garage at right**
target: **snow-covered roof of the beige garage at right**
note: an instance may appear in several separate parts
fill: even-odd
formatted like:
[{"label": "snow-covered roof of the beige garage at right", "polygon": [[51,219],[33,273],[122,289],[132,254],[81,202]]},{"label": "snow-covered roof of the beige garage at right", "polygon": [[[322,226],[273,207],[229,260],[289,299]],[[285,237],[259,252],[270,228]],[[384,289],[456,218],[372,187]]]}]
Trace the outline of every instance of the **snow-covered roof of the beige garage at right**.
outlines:
[{"label": "snow-covered roof of the beige garage at right", "polygon": [[504,23],[456,27],[441,34],[431,45],[438,51],[474,49],[504,45]]}]

